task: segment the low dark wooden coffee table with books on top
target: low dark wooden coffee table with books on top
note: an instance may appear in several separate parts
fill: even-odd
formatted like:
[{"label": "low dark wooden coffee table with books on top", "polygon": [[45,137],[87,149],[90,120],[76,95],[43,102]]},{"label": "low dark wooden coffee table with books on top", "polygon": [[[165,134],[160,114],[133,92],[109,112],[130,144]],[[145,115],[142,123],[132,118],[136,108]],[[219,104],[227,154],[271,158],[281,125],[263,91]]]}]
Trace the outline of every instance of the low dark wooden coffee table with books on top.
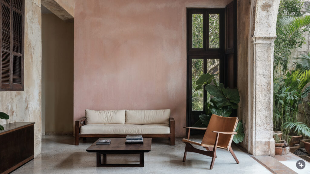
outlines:
[{"label": "low dark wooden coffee table with books on top", "polygon": [[[103,140],[108,138],[99,138]],[[96,145],[93,143],[87,152],[97,153],[97,167],[144,167],[144,152],[151,151],[152,139],[144,138],[143,144],[125,144],[126,138],[109,138],[109,145]],[[140,154],[139,164],[107,164],[107,154]],[[102,156],[103,155],[103,158]]]}]

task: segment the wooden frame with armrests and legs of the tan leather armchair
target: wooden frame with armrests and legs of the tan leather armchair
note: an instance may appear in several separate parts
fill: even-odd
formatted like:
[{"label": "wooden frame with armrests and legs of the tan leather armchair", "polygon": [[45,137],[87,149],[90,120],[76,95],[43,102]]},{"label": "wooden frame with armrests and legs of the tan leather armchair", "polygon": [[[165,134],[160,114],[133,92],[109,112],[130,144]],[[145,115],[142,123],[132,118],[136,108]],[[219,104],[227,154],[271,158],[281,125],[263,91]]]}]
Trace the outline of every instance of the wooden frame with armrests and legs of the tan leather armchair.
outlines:
[{"label": "wooden frame with armrests and legs of the tan leather armchair", "polygon": [[[188,128],[188,135],[187,135],[187,139],[184,138],[182,140],[185,143],[183,162],[185,162],[185,160],[186,160],[187,152],[194,152],[194,153],[198,153],[198,154],[203,154],[203,155],[212,157],[210,169],[212,169],[213,165],[214,165],[214,161],[215,161],[215,158],[216,158],[216,148],[226,149],[226,148],[217,146],[217,143],[218,143],[218,140],[219,140],[219,134],[229,134],[229,135],[236,135],[237,134],[237,132],[217,132],[217,131],[212,131],[212,132],[216,133],[216,138],[215,138],[214,145],[204,145],[204,144],[201,144],[201,143],[197,143],[195,141],[190,141],[189,140],[189,135],[190,135],[190,130],[191,129],[206,130],[207,128],[201,128],[201,127],[184,127],[184,128]],[[236,128],[236,126],[235,126],[235,128]],[[239,164],[239,161],[238,161],[235,153],[233,152],[233,150],[231,148],[231,143],[232,143],[232,139],[230,140],[228,148],[226,150],[229,151],[232,154],[232,157],[235,159],[237,164]],[[204,147],[206,149],[206,151],[205,150],[197,149],[197,148],[193,147],[193,145],[191,145],[191,144],[200,145],[200,146]]]}]

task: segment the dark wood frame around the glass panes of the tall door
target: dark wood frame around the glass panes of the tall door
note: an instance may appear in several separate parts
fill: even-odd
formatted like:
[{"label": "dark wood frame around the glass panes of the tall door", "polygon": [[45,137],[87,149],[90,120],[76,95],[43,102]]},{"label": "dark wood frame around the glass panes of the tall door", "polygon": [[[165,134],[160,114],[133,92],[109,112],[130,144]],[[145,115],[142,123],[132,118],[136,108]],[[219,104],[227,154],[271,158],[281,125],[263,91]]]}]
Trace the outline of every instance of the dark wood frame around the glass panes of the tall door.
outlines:
[{"label": "dark wood frame around the glass panes of the tall door", "polygon": [[[192,47],[192,15],[193,14],[203,14],[203,48],[193,48]],[[209,48],[209,14],[219,14],[219,48]],[[204,73],[206,73],[206,61],[208,59],[219,59],[219,83],[224,83],[226,85],[226,75],[225,75],[225,66],[226,66],[226,54],[225,54],[225,8],[187,8],[187,112],[186,119],[187,125],[192,126],[192,119],[190,118],[194,115],[199,116],[200,113],[204,113],[205,106],[203,111],[194,111],[192,110],[191,100],[192,100],[192,81],[189,79],[191,77],[191,67],[192,59],[203,59],[204,60]],[[206,90],[203,90],[204,96],[206,96]],[[204,102],[206,98],[204,97]],[[194,116],[196,117],[196,116]],[[197,133],[197,132],[193,132]]]}]

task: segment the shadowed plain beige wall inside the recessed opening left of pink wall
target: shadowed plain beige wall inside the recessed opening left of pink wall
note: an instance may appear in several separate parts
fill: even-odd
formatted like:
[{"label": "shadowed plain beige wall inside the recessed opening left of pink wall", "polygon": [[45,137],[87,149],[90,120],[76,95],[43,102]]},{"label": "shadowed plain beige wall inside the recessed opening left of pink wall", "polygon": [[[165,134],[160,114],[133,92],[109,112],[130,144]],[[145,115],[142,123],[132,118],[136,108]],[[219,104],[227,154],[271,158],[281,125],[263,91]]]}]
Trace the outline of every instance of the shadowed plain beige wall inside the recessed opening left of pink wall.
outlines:
[{"label": "shadowed plain beige wall inside the recessed opening left of pink wall", "polygon": [[73,23],[42,14],[42,133],[71,134],[72,119]]}]

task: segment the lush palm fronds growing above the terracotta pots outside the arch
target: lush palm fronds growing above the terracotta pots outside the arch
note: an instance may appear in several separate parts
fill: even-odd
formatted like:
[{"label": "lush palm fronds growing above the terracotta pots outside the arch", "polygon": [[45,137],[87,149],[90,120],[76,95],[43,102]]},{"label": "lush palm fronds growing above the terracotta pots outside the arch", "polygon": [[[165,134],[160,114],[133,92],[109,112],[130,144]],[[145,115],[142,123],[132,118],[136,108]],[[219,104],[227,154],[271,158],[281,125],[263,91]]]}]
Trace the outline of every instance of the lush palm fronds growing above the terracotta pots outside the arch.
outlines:
[{"label": "lush palm fronds growing above the terracotta pots outside the arch", "polygon": [[[310,92],[310,87],[303,88],[310,82],[310,70],[295,70],[285,77],[274,79],[273,84],[273,126],[274,130],[283,132],[283,139],[289,144],[289,133],[303,136],[310,135],[306,124],[297,121],[298,105]],[[304,107],[303,107],[304,108]],[[304,111],[305,112],[305,111]]]}]

